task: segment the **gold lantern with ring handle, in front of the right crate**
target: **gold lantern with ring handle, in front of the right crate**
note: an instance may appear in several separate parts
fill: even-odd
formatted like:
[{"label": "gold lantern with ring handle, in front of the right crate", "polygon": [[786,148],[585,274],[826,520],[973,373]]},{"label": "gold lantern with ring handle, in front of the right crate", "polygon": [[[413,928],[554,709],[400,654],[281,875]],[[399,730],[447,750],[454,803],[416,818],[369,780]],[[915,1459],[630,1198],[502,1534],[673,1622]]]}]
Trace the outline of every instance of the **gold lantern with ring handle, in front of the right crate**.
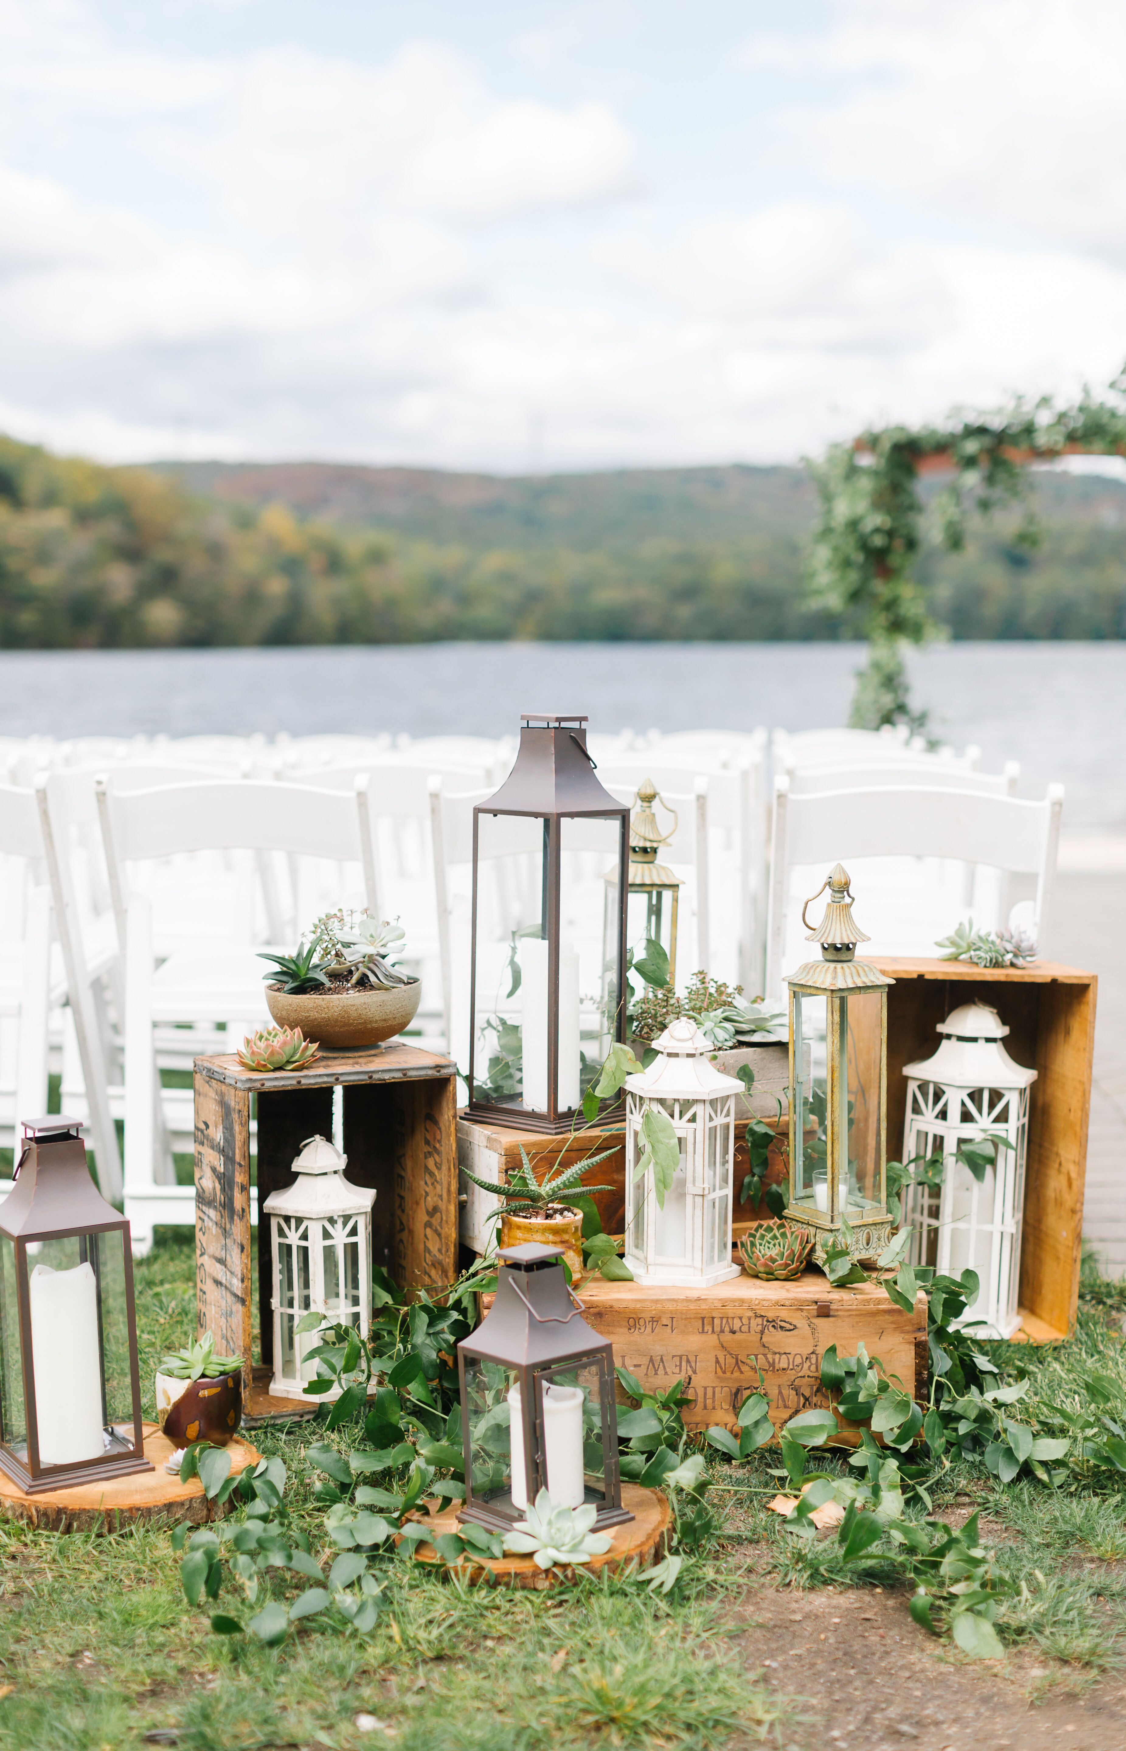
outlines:
[{"label": "gold lantern with ring handle, in front of the right crate", "polygon": [[[825,918],[806,912],[828,888]],[[888,1215],[888,986],[856,960],[869,937],[853,921],[849,876],[839,863],[806,900],[802,923],[821,960],[790,986],[790,1205],[786,1217],[814,1234],[814,1259],[848,1240],[874,1261],[891,1238]],[[846,1234],[848,1227],[848,1234]],[[851,1236],[851,1238],[849,1238]]]}]

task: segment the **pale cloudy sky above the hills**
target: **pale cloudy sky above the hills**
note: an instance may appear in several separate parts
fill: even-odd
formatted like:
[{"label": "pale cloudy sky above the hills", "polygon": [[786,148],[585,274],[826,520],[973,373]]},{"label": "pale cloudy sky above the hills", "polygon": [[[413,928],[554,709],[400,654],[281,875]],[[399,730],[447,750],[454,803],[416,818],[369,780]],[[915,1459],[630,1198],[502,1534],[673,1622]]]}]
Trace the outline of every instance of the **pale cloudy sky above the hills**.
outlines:
[{"label": "pale cloudy sky above the hills", "polygon": [[1121,0],[0,0],[0,427],[788,461],[1126,357]]}]

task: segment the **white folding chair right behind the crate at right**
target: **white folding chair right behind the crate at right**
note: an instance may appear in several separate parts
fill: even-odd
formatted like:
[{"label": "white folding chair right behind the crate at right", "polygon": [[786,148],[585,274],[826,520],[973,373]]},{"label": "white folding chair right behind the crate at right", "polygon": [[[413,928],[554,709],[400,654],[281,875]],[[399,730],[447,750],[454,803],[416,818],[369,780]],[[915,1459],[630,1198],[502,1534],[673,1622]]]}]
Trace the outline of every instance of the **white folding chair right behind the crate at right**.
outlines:
[{"label": "white folding chair right behind the crate at right", "polygon": [[[909,863],[902,872],[898,893],[884,891],[881,897],[884,916],[877,918],[872,900],[865,911],[863,876],[860,868],[851,867],[853,861],[865,860],[867,867],[867,860],[939,858],[986,865],[1002,870],[1005,877],[1033,876],[1037,881],[1033,926],[1044,953],[1051,928],[1061,811],[1061,784],[1049,784],[1044,802],[1024,802],[1019,797],[923,786],[855,788],[795,797],[786,777],[776,779],[767,996],[781,996],[783,972],[795,956],[807,958],[802,954],[800,939],[790,940],[788,932],[797,898],[793,872],[804,867],[809,867],[811,879],[820,870],[813,884],[816,886],[834,863],[849,865],[860,898],[858,921],[874,939],[874,947],[867,953],[883,949],[898,954],[933,954],[935,937],[953,928],[961,916],[961,893],[947,898],[946,919],[937,918],[935,909],[925,904],[925,895],[912,888],[914,865]],[[895,912],[891,919],[890,912]],[[1005,921],[1007,883],[1002,881],[993,923]]]}]

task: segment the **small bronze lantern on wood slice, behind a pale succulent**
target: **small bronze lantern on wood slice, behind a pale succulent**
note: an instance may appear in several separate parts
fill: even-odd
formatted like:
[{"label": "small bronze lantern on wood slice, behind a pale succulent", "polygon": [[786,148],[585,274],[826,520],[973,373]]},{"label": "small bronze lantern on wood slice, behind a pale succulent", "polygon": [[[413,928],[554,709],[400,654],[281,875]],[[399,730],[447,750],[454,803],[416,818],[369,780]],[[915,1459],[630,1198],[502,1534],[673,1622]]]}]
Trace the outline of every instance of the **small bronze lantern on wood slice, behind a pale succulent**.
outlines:
[{"label": "small bronze lantern on wood slice, behind a pale succulent", "polygon": [[615,1362],[571,1294],[559,1247],[504,1247],[492,1308],[457,1345],[466,1504],[459,1520],[506,1532],[539,1490],[557,1508],[622,1508]]}]

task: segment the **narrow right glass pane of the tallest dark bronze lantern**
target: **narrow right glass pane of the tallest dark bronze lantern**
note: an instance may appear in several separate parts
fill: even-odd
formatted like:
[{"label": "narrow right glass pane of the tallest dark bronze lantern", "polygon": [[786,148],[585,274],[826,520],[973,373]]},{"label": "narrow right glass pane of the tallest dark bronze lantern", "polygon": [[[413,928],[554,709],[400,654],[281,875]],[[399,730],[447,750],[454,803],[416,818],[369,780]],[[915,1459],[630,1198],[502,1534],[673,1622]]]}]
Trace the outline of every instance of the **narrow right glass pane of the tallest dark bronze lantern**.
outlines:
[{"label": "narrow right glass pane of the tallest dark bronze lantern", "polygon": [[[559,1110],[578,1107],[616,1038],[616,935],[604,954],[608,863],[616,863],[622,819],[564,816],[559,823]],[[611,965],[604,965],[609,960]],[[532,1105],[532,1103],[529,1103]]]}]

